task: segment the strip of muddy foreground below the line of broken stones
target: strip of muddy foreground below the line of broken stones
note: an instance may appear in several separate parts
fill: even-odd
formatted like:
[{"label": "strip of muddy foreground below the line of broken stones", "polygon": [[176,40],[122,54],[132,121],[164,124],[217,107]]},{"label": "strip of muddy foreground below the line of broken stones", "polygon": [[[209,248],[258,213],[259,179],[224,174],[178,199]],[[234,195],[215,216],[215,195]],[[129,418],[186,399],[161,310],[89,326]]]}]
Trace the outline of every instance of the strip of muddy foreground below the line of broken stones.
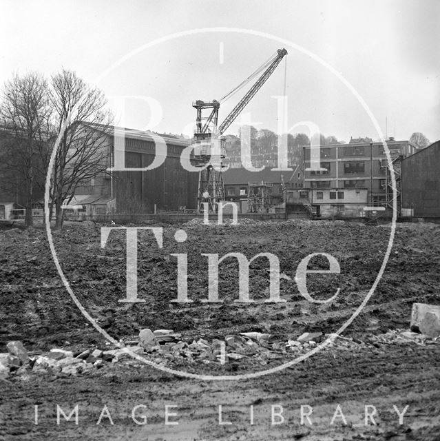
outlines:
[{"label": "strip of muddy foreground below the line of broken stones", "polygon": [[[393,440],[435,440],[436,432],[430,431],[440,429],[440,347],[414,347],[410,353],[407,349],[406,345],[396,345],[379,353],[327,351],[277,376],[239,382],[181,380],[147,367],[127,366],[112,366],[90,378],[32,376],[28,382],[13,381],[7,389],[0,385],[0,437],[174,440],[180,434],[186,437],[180,439],[187,440],[230,440],[239,435],[235,439],[244,436],[244,440],[267,441],[294,440],[306,434],[302,437],[306,441],[322,441],[341,437],[383,440],[386,431],[393,431],[397,434]],[[70,411],[75,403],[80,407],[78,427],[73,422],[58,426],[56,404]],[[329,424],[337,403],[346,416],[346,427]],[[32,424],[34,404],[41,407],[39,426]],[[96,425],[103,404],[107,404],[114,426],[105,419]],[[145,426],[138,426],[131,418],[136,404],[147,406]],[[165,404],[178,406],[173,411],[178,412],[180,427],[165,426]],[[223,405],[223,420],[231,421],[231,425],[218,425],[219,404]],[[279,404],[284,407],[286,421],[271,426],[271,405]],[[313,407],[312,427],[298,422],[302,404]],[[376,407],[378,426],[362,424],[367,404]],[[393,404],[400,410],[406,404],[410,406],[402,426],[391,411]],[[249,423],[251,405],[253,425]],[[361,436],[368,438],[357,438]]]}]

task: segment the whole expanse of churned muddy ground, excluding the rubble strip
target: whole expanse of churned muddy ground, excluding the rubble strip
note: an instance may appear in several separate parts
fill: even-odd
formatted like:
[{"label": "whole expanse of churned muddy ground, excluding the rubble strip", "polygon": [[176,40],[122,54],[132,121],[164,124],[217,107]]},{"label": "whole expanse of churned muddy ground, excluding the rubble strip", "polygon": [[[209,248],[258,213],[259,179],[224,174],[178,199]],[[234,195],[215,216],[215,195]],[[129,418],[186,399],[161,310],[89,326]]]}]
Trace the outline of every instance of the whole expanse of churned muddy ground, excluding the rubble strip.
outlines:
[{"label": "whole expanse of churned muddy ground, excluding the rubble strip", "polygon": [[[151,232],[138,235],[138,298],[125,298],[125,232],[112,232],[101,248],[101,227],[70,223],[53,232],[54,246],[64,274],[81,305],[116,340],[134,340],[139,329],[174,329],[182,340],[208,342],[240,332],[271,334],[271,342],[295,340],[306,331],[337,331],[362,304],[377,278],[387,250],[391,228],[361,223],[296,220],[255,221],[238,226],[207,226],[197,222],[163,227],[163,249]],[[110,226],[110,225],[106,225]],[[128,225],[130,226],[130,225]],[[134,226],[134,225],[132,225]],[[67,293],[50,254],[41,227],[18,225],[0,231],[0,351],[21,340],[28,351],[54,347],[80,351],[105,349],[105,338],[88,322]],[[176,243],[177,229],[187,232]],[[269,265],[258,259],[250,275],[251,304],[238,299],[235,259],[220,265],[219,297],[207,303],[207,256],[241,252],[248,258],[262,252],[280,261],[280,297],[268,303]],[[187,254],[188,292],[193,302],[179,305],[176,257]],[[317,304],[306,300],[295,283],[300,261],[312,253],[327,253],[339,263],[341,274],[308,276],[308,292],[326,300],[339,288],[335,300]],[[398,224],[388,265],[375,293],[343,331],[358,347],[326,348],[277,373],[247,380],[182,378],[141,363],[108,364],[83,376],[30,373],[0,382],[0,439],[6,440],[440,440],[440,343],[416,345],[372,341],[389,329],[408,329],[412,303],[440,304],[440,226]],[[309,269],[328,269],[325,258],[315,257]],[[257,373],[295,359],[283,353],[268,359],[200,363],[164,359],[155,362],[170,369],[211,376]],[[78,425],[56,421],[56,404],[71,411],[78,404]],[[132,410],[147,415],[136,424]],[[340,407],[337,407],[340,404]],[[34,424],[34,406],[39,424]],[[107,405],[109,418],[101,418]],[[165,424],[165,405],[171,422]],[[222,422],[219,409],[222,405]],[[312,424],[300,424],[300,407],[313,409]],[[375,406],[375,422],[365,424],[366,406]],[[253,406],[253,424],[250,421]],[[271,423],[271,411],[280,412]],[[408,406],[399,424],[399,411]],[[306,409],[306,408],[304,408]],[[309,408],[307,408],[310,410]],[[369,410],[372,408],[368,407]],[[344,418],[341,416],[344,414]],[[335,413],[337,416],[335,416]],[[332,418],[334,419],[331,424]]]}]

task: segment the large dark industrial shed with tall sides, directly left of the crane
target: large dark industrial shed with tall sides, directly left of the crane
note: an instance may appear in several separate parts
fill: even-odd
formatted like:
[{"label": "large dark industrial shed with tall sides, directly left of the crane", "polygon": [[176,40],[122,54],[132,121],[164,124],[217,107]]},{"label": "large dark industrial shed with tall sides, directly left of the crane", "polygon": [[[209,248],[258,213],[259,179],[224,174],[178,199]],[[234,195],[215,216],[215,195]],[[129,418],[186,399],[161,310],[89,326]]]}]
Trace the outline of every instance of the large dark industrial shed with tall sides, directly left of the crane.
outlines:
[{"label": "large dark industrial shed with tall sides, directly left of the crane", "polygon": [[[100,130],[99,127],[91,127]],[[107,166],[114,164],[114,139],[124,140],[125,167],[143,168],[156,156],[156,134],[149,131],[114,127],[104,136],[107,142]],[[167,145],[163,164],[147,171],[103,172],[76,188],[74,198],[64,206],[71,214],[153,213],[196,208],[198,173],[185,170],[180,164],[182,150],[188,141],[160,134]]]}]

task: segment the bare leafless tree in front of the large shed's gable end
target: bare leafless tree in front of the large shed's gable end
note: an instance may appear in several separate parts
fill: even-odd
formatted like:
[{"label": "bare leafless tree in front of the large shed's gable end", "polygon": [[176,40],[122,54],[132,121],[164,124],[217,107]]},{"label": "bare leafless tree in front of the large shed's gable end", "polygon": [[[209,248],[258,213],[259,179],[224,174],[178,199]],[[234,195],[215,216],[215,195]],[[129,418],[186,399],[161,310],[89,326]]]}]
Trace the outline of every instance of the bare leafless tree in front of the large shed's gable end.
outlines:
[{"label": "bare leafless tree in front of the large shed's gable end", "polygon": [[103,92],[87,85],[75,72],[61,70],[52,76],[51,86],[50,100],[58,130],[67,118],[70,121],[56,150],[52,170],[55,227],[62,228],[62,206],[72,201],[76,187],[105,173],[109,167],[109,134],[113,119],[105,110],[107,101]]}]

